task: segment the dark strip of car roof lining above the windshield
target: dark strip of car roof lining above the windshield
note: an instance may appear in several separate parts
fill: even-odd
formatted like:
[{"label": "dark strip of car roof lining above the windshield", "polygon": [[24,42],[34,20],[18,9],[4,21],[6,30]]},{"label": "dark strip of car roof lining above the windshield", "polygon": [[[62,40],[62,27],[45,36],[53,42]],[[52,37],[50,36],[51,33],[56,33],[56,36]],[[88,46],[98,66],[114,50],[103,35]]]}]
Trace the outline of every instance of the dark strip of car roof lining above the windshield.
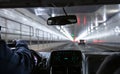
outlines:
[{"label": "dark strip of car roof lining above the windshield", "polygon": [[66,7],[79,5],[119,4],[120,0],[0,0],[0,8]]}]

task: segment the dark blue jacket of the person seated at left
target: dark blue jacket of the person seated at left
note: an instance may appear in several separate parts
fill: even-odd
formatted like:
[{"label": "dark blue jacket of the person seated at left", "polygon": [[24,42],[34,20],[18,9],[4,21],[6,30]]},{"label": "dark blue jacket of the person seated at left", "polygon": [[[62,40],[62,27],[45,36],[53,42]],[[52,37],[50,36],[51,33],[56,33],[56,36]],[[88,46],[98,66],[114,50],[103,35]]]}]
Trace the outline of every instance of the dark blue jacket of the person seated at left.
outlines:
[{"label": "dark blue jacket of the person seated at left", "polygon": [[18,43],[16,51],[0,40],[0,74],[30,74],[32,70],[31,53],[27,45]]}]

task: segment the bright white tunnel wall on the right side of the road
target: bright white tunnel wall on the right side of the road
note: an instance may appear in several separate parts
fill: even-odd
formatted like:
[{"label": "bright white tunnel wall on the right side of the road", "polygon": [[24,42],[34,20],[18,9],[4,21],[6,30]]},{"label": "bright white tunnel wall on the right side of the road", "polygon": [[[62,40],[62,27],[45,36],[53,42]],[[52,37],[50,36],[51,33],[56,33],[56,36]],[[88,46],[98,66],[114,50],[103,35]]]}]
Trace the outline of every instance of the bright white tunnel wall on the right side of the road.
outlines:
[{"label": "bright white tunnel wall on the right side of the road", "polygon": [[100,24],[97,30],[88,35],[88,42],[98,42],[104,45],[120,45],[120,13]]}]

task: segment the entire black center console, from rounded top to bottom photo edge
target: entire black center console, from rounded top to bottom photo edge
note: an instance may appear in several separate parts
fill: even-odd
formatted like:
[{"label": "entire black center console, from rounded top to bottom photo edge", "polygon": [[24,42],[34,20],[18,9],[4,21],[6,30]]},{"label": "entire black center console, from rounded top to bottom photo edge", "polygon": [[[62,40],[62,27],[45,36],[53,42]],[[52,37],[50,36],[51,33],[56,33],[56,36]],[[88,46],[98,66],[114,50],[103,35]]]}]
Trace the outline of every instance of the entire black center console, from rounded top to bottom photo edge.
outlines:
[{"label": "entire black center console, from rounded top to bottom photo edge", "polygon": [[82,54],[79,50],[53,51],[50,55],[51,74],[81,74]]}]

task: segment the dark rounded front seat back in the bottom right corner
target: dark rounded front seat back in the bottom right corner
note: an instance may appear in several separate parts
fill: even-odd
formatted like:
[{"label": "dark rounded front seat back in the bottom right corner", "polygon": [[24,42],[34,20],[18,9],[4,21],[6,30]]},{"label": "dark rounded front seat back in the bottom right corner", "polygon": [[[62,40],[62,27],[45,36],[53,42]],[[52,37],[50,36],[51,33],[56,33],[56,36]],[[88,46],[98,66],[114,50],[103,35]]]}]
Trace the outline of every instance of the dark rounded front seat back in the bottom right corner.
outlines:
[{"label": "dark rounded front seat back in the bottom right corner", "polygon": [[120,74],[120,54],[106,57],[96,74]]}]

